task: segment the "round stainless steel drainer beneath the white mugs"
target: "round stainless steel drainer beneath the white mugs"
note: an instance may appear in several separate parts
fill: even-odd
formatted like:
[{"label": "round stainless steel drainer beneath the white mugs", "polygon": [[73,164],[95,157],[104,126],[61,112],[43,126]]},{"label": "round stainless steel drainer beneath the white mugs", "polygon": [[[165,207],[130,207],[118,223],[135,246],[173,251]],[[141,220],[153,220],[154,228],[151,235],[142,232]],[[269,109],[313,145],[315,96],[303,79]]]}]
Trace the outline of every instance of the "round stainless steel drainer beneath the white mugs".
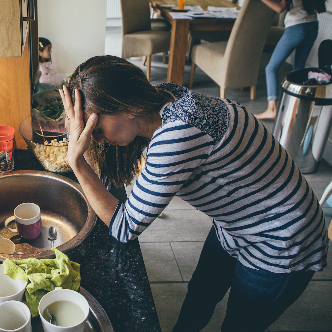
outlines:
[{"label": "round stainless steel drainer beneath the white mugs", "polygon": [[[110,319],[99,302],[84,288],[80,287],[79,293],[88,301],[90,313],[84,332],[114,332]],[[32,332],[43,332],[40,317],[32,318]]]}]

